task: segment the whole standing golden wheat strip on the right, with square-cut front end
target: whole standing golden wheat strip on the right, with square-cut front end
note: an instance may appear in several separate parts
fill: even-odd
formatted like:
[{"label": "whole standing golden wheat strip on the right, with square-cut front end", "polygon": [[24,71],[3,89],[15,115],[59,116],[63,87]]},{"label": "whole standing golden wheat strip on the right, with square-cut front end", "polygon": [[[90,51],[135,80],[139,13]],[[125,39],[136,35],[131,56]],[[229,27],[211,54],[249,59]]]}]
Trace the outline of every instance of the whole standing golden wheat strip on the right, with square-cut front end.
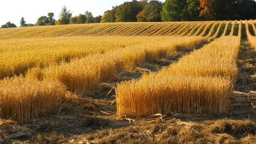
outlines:
[{"label": "whole standing golden wheat strip on the right, with square-cut front end", "polygon": [[217,38],[158,73],[116,88],[117,114],[221,113],[236,82],[240,37]]}]

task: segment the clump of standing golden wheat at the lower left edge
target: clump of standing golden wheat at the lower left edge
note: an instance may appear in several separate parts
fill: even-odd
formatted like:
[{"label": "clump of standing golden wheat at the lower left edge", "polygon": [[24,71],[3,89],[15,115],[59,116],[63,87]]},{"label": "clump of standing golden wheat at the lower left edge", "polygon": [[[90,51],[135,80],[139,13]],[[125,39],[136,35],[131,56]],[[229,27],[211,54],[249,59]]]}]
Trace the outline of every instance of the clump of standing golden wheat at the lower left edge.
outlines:
[{"label": "clump of standing golden wheat at the lower left edge", "polygon": [[66,87],[62,83],[45,82],[24,77],[0,81],[0,117],[23,122],[51,112],[63,99]]}]

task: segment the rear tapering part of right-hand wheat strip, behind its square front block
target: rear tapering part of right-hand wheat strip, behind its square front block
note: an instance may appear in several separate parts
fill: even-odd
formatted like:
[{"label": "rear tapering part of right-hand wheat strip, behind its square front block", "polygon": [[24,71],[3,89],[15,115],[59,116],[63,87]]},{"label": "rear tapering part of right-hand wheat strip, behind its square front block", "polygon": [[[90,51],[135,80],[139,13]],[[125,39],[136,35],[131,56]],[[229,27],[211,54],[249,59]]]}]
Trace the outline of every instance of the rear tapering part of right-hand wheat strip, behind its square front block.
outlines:
[{"label": "rear tapering part of right-hand wheat strip, behind its square front block", "polygon": [[[221,76],[236,82],[236,59],[239,53],[240,37],[217,38],[190,55],[184,56],[169,68],[170,74],[183,76]],[[207,58],[207,59],[206,59]],[[186,67],[184,65],[189,65]]]}]

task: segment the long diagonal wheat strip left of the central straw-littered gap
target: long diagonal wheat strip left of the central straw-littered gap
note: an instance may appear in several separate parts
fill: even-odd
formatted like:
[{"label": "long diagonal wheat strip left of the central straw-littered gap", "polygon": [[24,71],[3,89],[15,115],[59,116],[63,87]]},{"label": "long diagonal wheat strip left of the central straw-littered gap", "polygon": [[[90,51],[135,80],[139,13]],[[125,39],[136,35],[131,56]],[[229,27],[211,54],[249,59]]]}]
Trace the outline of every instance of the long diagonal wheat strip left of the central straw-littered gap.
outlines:
[{"label": "long diagonal wheat strip left of the central straw-littered gap", "polygon": [[178,47],[192,48],[202,41],[202,38],[177,37],[172,38],[172,41],[169,41],[168,38],[166,44],[158,42],[146,44],[146,46],[117,49],[108,53],[88,56],[81,60],[74,59],[69,64],[48,67],[36,74],[42,73],[45,80],[62,82],[70,91],[83,92],[96,88],[100,82],[113,79],[120,71],[129,70],[144,64],[145,61],[163,58]]}]

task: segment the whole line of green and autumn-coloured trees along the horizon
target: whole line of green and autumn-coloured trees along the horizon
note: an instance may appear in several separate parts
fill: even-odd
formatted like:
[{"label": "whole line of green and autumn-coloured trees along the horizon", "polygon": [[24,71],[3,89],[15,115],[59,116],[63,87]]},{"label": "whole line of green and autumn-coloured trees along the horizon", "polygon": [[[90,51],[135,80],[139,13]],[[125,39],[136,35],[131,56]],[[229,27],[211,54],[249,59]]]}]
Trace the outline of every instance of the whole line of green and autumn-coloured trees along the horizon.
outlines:
[{"label": "whole line of green and autumn-coloured trees along the horizon", "polygon": [[[173,22],[196,20],[239,20],[256,19],[256,2],[253,0],[133,0],[112,7],[103,16],[93,17],[86,11],[84,14],[72,17],[70,10],[64,6],[54,19],[54,13],[41,16],[35,24],[27,24],[22,17],[20,26],[67,25],[79,23],[108,22]],[[1,28],[16,27],[7,22]]]}]

